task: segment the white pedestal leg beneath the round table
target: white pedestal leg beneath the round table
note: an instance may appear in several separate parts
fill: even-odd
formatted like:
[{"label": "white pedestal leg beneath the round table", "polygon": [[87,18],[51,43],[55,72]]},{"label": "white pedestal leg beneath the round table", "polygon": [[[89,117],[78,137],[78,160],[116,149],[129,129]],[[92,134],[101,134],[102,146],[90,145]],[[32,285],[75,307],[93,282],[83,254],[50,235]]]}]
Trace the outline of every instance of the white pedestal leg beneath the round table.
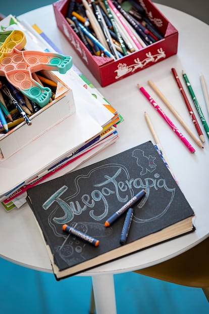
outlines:
[{"label": "white pedestal leg beneath the round table", "polygon": [[96,314],[117,314],[113,275],[92,276]]}]

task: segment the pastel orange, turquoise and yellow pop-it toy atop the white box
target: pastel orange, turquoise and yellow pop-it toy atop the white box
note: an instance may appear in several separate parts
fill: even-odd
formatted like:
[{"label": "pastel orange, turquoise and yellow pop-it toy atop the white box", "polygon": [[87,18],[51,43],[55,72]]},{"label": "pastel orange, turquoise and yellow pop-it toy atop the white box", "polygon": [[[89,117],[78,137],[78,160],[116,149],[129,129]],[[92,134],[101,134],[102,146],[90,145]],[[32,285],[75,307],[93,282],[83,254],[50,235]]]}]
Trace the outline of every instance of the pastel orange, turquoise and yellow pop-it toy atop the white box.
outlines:
[{"label": "pastel orange, turquoise and yellow pop-it toy atop the white box", "polygon": [[25,34],[20,30],[0,32],[0,75],[40,107],[48,104],[51,90],[32,77],[40,70],[65,74],[72,67],[72,57],[57,53],[22,50]]}]

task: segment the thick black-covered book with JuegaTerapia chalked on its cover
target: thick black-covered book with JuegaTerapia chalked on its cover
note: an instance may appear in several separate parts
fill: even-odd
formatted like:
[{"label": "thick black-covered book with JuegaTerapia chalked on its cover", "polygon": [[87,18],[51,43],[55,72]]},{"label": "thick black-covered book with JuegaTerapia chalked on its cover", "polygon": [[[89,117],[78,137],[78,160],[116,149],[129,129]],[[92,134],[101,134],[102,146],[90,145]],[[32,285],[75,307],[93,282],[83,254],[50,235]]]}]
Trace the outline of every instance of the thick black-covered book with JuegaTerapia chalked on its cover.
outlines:
[{"label": "thick black-covered book with JuegaTerapia chalked on its cover", "polygon": [[[121,245],[126,214],[110,227],[105,221],[141,189]],[[194,212],[151,142],[28,189],[27,201],[58,280],[194,230]],[[66,233],[65,224],[99,245]]]}]

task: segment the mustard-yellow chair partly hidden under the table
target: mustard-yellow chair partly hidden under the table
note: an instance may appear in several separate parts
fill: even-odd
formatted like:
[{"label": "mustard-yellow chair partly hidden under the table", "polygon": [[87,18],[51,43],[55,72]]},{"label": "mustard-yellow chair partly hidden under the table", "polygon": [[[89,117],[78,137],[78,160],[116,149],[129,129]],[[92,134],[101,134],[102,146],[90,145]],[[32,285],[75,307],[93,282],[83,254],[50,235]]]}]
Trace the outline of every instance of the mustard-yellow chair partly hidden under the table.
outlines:
[{"label": "mustard-yellow chair partly hidden under the table", "polygon": [[[171,283],[202,288],[209,302],[209,237],[190,250],[160,264],[134,271],[141,275]],[[89,313],[95,310],[93,289]]]}]

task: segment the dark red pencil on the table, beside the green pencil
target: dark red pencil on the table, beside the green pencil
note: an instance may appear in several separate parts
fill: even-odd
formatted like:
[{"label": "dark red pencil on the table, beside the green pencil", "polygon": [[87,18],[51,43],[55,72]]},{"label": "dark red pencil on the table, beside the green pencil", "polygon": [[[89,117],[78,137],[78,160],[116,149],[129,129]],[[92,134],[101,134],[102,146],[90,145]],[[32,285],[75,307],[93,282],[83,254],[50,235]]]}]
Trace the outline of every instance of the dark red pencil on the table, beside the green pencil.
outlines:
[{"label": "dark red pencil on the table, beside the green pencil", "polygon": [[195,116],[195,114],[194,114],[194,112],[193,112],[193,110],[192,110],[192,107],[191,107],[191,105],[190,105],[190,102],[189,102],[189,100],[188,100],[188,98],[187,98],[187,96],[186,96],[186,93],[185,93],[184,88],[183,88],[183,86],[182,86],[182,83],[181,83],[181,81],[180,81],[180,79],[179,79],[179,77],[178,77],[178,74],[177,74],[177,72],[176,72],[176,69],[172,68],[171,71],[172,71],[172,73],[173,73],[173,75],[174,75],[174,78],[175,78],[175,80],[176,80],[176,83],[177,83],[177,85],[178,85],[178,87],[179,87],[179,91],[180,91],[181,95],[183,96],[184,102],[185,102],[186,107],[187,107],[187,109],[188,109],[188,111],[189,111],[189,115],[190,115],[190,117],[191,117],[191,120],[192,120],[192,122],[194,123],[194,126],[195,126],[195,128],[196,128],[196,131],[197,131],[197,133],[198,133],[198,136],[199,136],[200,140],[201,140],[202,142],[204,142],[204,137],[203,137],[202,130],[201,130],[200,126],[199,126],[199,123],[197,122],[196,116]]}]

